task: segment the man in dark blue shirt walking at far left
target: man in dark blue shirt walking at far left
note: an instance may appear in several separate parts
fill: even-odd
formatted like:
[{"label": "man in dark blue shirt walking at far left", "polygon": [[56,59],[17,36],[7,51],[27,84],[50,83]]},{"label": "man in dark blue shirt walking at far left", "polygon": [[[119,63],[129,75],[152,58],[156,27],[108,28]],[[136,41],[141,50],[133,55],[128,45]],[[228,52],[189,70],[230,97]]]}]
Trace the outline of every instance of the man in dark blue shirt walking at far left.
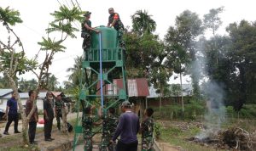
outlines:
[{"label": "man in dark blue shirt walking at far left", "polygon": [[3,132],[3,134],[5,135],[9,135],[9,132],[8,132],[9,126],[13,121],[15,121],[15,133],[20,133],[20,131],[18,131],[18,122],[19,122],[19,115],[17,111],[18,105],[15,97],[16,97],[15,92],[12,92],[12,98],[10,98],[7,101],[6,112],[3,115],[3,118],[5,118],[8,115],[8,122],[6,123],[5,130]]}]

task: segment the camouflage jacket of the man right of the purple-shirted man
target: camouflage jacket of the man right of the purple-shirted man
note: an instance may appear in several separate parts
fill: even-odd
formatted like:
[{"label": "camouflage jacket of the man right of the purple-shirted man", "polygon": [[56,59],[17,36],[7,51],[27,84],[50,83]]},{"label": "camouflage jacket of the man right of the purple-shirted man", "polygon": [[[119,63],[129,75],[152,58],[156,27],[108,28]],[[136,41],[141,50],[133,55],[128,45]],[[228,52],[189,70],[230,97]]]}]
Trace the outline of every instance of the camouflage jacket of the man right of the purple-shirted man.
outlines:
[{"label": "camouflage jacket of the man right of the purple-shirted man", "polygon": [[143,120],[142,122],[142,137],[153,137],[154,132],[154,120],[151,117]]}]

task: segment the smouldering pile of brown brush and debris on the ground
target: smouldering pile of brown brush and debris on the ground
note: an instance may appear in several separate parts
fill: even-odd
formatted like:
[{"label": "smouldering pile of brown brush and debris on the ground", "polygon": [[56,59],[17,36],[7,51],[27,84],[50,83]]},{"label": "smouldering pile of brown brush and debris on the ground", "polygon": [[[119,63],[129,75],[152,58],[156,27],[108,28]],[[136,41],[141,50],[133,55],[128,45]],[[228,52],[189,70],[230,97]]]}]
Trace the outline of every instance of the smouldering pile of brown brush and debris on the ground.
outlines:
[{"label": "smouldering pile of brown brush and debris on the ground", "polygon": [[250,134],[240,127],[232,127],[225,131],[209,132],[207,137],[191,137],[189,141],[201,143],[213,148],[236,148],[237,150],[256,150],[256,131]]}]

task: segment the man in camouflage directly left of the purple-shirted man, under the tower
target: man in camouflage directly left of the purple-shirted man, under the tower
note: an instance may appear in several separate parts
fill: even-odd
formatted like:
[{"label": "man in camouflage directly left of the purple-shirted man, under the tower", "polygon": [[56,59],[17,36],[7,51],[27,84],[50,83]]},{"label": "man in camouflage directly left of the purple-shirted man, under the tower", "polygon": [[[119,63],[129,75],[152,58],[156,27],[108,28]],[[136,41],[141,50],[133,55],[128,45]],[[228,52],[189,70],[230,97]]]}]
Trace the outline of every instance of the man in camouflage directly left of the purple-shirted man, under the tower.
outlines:
[{"label": "man in camouflage directly left of the purple-shirted man, under the tower", "polygon": [[102,117],[103,119],[103,133],[102,133],[102,144],[108,145],[108,151],[114,150],[114,144],[110,143],[114,131],[118,125],[119,119],[115,114],[114,108],[108,109],[108,115],[106,117]]}]

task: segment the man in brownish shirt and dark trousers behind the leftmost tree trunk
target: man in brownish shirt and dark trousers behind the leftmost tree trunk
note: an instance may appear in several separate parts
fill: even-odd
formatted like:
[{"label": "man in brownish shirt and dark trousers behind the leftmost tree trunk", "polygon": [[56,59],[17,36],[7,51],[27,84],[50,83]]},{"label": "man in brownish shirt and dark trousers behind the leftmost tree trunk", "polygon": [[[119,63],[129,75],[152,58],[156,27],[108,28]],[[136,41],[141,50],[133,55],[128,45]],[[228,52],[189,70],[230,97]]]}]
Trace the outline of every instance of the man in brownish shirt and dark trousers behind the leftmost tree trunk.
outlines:
[{"label": "man in brownish shirt and dark trousers behind the leftmost tree trunk", "polygon": [[[26,100],[26,116],[29,115],[29,113],[32,110],[33,102],[35,99],[37,99],[37,92],[30,90],[28,92],[29,98]],[[38,108],[36,106],[35,111],[32,113],[31,118],[29,119],[28,123],[28,137],[29,137],[29,143],[31,144],[37,144],[37,142],[34,140],[37,130],[37,123],[38,123]]]}]

